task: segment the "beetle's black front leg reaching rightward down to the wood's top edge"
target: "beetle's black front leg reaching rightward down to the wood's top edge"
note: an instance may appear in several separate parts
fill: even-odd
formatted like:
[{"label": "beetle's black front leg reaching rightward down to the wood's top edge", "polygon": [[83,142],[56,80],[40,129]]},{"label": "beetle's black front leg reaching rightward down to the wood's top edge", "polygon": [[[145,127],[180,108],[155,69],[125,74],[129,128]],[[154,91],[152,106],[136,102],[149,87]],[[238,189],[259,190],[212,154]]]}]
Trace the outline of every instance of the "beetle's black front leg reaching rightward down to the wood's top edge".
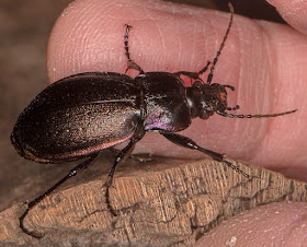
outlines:
[{"label": "beetle's black front leg reaching rightward down to the wood's top edge", "polygon": [[230,162],[225,160],[225,156],[220,153],[216,153],[211,150],[206,150],[200,145],[197,145],[193,140],[190,138],[180,136],[178,133],[172,133],[172,132],[167,132],[167,131],[159,131],[162,136],[164,136],[168,140],[171,142],[182,145],[184,148],[189,148],[192,150],[198,150],[207,155],[209,155],[213,160],[218,161],[218,162],[224,162],[226,165],[228,165],[230,168],[235,169],[237,173],[242,174],[245,177],[249,177],[248,174],[243,173],[241,169],[239,169],[237,166],[232,165]]}]

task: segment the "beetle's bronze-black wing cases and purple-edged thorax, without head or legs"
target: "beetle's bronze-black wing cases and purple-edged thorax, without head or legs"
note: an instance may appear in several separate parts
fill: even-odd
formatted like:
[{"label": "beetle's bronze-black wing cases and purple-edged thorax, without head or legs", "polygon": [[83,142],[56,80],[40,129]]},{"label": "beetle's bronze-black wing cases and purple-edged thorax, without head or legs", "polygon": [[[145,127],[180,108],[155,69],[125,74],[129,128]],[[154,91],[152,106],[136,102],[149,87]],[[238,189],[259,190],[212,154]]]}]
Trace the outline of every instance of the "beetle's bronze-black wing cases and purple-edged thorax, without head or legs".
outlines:
[{"label": "beetle's bronze-black wing cases and purple-edged thorax, without head or legs", "polygon": [[177,132],[190,124],[180,77],[147,72],[132,79],[87,72],[64,78],[39,93],[20,115],[11,141],[27,160],[60,163],[122,143],[141,128]]}]

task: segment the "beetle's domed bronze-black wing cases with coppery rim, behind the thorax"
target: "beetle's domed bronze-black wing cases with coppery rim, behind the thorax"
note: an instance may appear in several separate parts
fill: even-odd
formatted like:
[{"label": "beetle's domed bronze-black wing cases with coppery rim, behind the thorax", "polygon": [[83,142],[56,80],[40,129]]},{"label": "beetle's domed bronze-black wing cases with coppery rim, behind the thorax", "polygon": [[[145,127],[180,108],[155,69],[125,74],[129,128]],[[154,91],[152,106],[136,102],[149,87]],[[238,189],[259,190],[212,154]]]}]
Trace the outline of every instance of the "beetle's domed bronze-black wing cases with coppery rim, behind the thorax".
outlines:
[{"label": "beetle's domed bronze-black wing cases with coppery rim, behind the thorax", "polygon": [[22,156],[38,162],[99,152],[134,134],[140,115],[138,95],[125,74],[65,78],[38,94],[21,114],[12,143]]}]

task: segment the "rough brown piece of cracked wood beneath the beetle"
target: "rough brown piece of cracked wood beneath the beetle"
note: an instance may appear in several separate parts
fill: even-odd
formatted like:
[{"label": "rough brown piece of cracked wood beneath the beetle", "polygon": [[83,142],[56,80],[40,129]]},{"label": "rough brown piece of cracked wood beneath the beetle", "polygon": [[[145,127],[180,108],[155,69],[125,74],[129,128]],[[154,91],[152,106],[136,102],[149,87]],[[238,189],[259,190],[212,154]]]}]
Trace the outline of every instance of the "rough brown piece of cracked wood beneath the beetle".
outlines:
[{"label": "rough brown piece of cracked wood beneath the beetle", "polygon": [[[79,175],[81,178],[72,178],[75,184],[62,186],[29,213],[24,224],[45,233],[39,240],[19,227],[19,217],[26,209],[23,203],[2,211],[0,242],[42,246],[191,246],[223,220],[245,210],[307,198],[306,184],[235,161],[232,164],[250,178],[212,160],[157,157],[141,164],[127,160],[115,173],[111,188],[111,203],[121,211],[114,217],[106,208],[103,188],[113,160],[114,155],[110,155],[96,161]],[[53,184],[41,185],[41,193]]]}]

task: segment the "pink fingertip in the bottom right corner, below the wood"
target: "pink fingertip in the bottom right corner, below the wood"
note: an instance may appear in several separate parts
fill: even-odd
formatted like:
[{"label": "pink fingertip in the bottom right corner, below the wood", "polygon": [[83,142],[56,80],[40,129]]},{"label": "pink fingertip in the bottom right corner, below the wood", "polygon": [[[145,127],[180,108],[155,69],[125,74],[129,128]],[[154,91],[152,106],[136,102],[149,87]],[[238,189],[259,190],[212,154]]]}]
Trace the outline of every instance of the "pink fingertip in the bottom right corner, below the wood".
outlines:
[{"label": "pink fingertip in the bottom right corner, below the wood", "polygon": [[303,246],[307,204],[278,202],[247,211],[215,227],[196,246]]}]

